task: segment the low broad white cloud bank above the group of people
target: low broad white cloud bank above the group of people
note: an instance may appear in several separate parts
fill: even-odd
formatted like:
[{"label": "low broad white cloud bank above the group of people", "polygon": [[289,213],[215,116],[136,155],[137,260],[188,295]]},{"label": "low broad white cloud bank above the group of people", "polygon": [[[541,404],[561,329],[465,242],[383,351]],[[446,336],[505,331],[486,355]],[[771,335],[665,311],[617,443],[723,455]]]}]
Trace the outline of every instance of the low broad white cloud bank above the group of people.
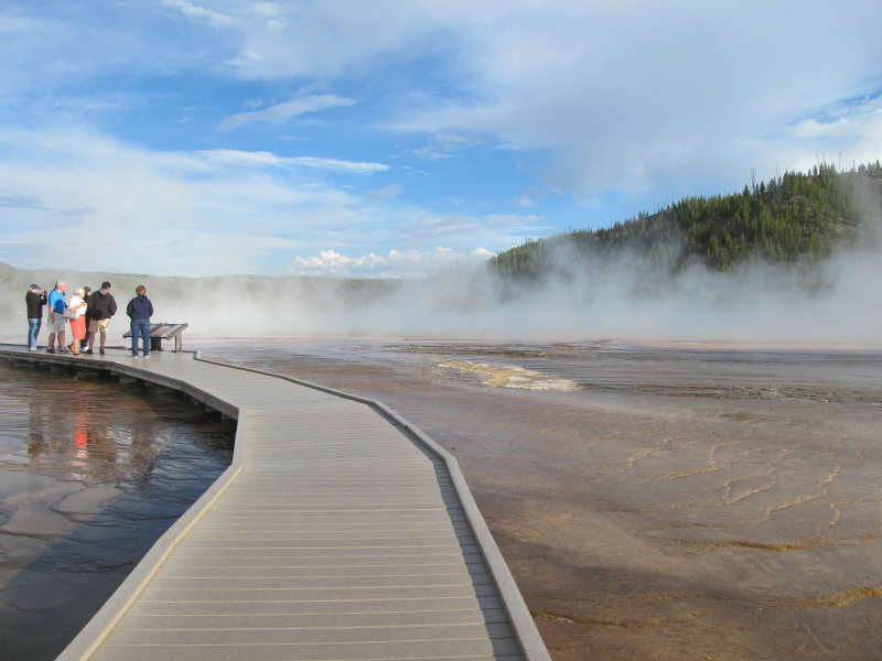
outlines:
[{"label": "low broad white cloud bank above the group of people", "polygon": [[[316,170],[383,164],[309,163],[266,151],[155,152],[82,130],[0,131],[0,226],[4,241],[21,246],[14,261],[23,268],[176,275],[267,272],[313,252],[303,272],[424,275],[465,254],[463,246],[523,234],[517,216],[445,224],[418,207],[372,205]],[[440,226],[415,237],[419,223]],[[435,235],[452,248],[427,250]],[[372,257],[376,245],[401,248]]]}]

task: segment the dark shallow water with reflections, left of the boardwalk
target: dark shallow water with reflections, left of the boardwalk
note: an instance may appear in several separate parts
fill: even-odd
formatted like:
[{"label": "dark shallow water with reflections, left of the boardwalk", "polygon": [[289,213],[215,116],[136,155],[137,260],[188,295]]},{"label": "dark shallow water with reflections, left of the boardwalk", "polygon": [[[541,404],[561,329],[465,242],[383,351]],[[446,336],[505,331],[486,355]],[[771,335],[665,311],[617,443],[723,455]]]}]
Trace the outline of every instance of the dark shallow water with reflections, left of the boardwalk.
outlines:
[{"label": "dark shallow water with reflections, left of the boardwalk", "polygon": [[0,655],[49,660],[229,465],[235,424],[15,364],[0,402]]}]

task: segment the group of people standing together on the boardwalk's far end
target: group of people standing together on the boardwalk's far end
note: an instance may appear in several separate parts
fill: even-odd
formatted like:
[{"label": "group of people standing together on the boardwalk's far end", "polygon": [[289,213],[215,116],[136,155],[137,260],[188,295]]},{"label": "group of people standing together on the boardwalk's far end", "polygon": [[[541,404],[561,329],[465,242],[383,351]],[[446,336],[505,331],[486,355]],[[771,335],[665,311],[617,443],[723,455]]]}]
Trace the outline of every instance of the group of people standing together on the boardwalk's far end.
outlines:
[{"label": "group of people standing together on the boardwalk's far end", "polygon": [[[74,295],[67,301],[67,283],[60,280],[51,292],[41,291],[32,284],[24,296],[28,303],[28,348],[37,350],[36,336],[43,323],[43,307],[49,307],[46,325],[49,326],[50,354],[72,353],[94,354],[95,336],[100,337],[98,351],[104,355],[107,342],[107,328],[110,317],[117,313],[117,302],[110,293],[110,283],[101,283],[101,289],[93,292],[84,286],[74,290]],[[129,301],[126,314],[131,319],[131,355],[138,357],[138,339],[143,342],[143,357],[150,357],[150,317],[153,315],[153,304],[147,297],[147,288],[138,285],[135,297]],[[65,345],[67,326],[71,326],[73,339]],[[57,340],[57,349],[55,343]]]}]

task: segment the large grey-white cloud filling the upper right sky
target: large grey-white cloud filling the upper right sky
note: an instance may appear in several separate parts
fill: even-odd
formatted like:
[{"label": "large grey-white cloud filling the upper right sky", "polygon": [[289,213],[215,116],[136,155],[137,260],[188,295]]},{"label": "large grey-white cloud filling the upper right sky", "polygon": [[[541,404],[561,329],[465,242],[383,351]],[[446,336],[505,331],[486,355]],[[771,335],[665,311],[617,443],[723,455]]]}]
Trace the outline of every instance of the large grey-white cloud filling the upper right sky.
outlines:
[{"label": "large grey-white cloud filling the upper right sky", "polygon": [[[225,59],[245,79],[401,80],[427,63],[429,75],[391,91],[384,126],[424,133],[411,153],[431,161],[482,142],[549,150],[548,188],[735,183],[752,165],[814,161],[816,138],[839,151],[875,136],[869,121],[850,121],[864,131],[854,139],[836,132],[836,118],[799,122],[878,87],[878,2],[772,3],[762,21],[734,0],[215,7],[237,21]],[[849,47],[820,56],[818,43]],[[249,115],[224,127],[265,120]]]}]

